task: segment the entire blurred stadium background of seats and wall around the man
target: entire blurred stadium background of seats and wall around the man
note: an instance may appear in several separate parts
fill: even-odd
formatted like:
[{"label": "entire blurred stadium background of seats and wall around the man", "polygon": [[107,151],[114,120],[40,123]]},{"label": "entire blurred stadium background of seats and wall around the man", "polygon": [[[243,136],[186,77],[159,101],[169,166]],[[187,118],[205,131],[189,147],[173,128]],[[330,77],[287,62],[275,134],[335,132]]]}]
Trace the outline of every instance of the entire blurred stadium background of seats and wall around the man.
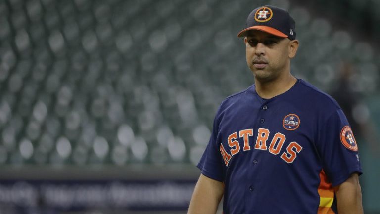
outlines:
[{"label": "entire blurred stadium background of seats and wall around the man", "polygon": [[380,213],[377,0],[1,0],[0,214],[186,213],[220,102],[253,84],[237,33],[296,20],[292,74],[341,103]]}]

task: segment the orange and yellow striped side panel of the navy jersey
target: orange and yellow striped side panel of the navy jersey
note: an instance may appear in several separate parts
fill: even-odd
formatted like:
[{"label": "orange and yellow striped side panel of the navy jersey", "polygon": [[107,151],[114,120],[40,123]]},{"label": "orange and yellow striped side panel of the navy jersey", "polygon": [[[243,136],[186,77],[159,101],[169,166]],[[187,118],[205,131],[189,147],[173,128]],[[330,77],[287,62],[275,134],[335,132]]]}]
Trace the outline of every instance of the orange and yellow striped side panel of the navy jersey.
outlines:
[{"label": "orange and yellow striped side panel of the navy jersey", "polygon": [[318,187],[318,194],[321,198],[318,208],[318,214],[335,214],[331,209],[332,202],[334,201],[334,190],[332,184],[328,181],[325,171],[319,173],[321,183]]}]

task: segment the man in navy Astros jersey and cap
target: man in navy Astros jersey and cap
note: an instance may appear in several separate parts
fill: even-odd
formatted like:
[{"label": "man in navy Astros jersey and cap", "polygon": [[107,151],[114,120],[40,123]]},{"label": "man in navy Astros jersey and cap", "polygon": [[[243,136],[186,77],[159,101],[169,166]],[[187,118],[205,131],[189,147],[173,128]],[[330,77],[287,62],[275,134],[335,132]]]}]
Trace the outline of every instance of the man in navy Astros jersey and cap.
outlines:
[{"label": "man in navy Astros jersey and cap", "polygon": [[338,104],[290,73],[289,13],[254,9],[244,37],[255,84],[225,99],[188,214],[362,214],[358,147]]}]

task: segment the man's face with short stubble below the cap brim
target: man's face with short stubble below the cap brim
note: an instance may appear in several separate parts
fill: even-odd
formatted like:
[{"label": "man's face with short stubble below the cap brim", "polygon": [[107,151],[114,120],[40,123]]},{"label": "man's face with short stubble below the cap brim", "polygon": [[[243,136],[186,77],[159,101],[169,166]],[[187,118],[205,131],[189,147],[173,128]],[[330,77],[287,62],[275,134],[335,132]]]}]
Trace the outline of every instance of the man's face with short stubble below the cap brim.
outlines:
[{"label": "man's face with short stubble below the cap brim", "polygon": [[253,30],[248,33],[244,42],[248,67],[257,80],[272,81],[289,66],[289,59],[292,57],[289,55],[289,39]]}]

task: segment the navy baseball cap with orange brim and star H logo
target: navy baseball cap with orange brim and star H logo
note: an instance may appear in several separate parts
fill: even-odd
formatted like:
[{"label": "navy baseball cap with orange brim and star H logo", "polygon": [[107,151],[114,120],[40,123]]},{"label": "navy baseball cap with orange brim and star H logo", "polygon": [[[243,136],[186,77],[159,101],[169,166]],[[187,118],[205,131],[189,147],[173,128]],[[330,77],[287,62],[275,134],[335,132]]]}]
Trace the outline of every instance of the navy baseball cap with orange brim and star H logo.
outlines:
[{"label": "navy baseball cap with orange brim and star H logo", "polygon": [[295,40],[295,21],[289,12],[279,7],[266,5],[257,7],[247,17],[247,28],[238,33],[244,37],[249,30],[260,30],[278,37]]}]

